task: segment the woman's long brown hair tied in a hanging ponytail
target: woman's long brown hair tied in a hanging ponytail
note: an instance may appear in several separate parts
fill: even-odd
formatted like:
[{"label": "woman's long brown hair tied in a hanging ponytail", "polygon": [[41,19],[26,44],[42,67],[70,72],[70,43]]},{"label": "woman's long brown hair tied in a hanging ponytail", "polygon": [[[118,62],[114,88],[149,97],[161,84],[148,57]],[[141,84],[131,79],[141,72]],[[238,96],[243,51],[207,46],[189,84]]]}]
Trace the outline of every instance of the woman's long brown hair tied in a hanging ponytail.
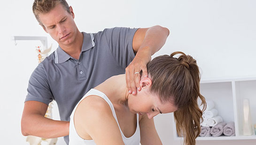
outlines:
[{"label": "woman's long brown hair tied in a hanging ponytail", "polygon": [[[180,54],[178,58],[173,57]],[[197,99],[205,98],[200,94],[200,72],[192,56],[182,52],[155,57],[147,64],[148,74],[152,77],[151,92],[158,94],[162,102],[169,101],[178,110],[174,112],[176,129],[179,136],[184,135],[184,144],[195,145],[199,136],[202,110]]]}]

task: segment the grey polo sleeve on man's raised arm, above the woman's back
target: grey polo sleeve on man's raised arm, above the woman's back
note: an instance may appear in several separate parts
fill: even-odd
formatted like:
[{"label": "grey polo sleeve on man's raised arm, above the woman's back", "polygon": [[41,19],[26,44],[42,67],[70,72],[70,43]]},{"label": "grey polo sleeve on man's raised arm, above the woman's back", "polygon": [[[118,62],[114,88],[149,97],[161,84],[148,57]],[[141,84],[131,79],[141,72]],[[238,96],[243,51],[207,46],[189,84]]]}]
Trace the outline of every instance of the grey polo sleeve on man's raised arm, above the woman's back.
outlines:
[{"label": "grey polo sleeve on man's raised arm, above the woman's back", "polygon": [[135,54],[132,48],[132,40],[139,28],[115,27],[105,29],[103,33],[113,57],[124,69],[131,63]]}]

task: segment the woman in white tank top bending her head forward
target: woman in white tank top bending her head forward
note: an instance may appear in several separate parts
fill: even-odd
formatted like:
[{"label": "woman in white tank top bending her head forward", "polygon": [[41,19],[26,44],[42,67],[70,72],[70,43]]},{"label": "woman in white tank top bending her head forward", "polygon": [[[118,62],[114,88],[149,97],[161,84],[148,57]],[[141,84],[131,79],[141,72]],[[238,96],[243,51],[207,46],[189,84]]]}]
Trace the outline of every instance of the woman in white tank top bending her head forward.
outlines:
[{"label": "woman in white tank top bending her head forward", "polygon": [[70,116],[70,145],[161,145],[153,117],[171,112],[185,144],[195,145],[202,119],[198,97],[206,104],[196,61],[175,52],[150,61],[147,71],[135,96],[127,92],[125,75],[112,76],[87,92]]}]

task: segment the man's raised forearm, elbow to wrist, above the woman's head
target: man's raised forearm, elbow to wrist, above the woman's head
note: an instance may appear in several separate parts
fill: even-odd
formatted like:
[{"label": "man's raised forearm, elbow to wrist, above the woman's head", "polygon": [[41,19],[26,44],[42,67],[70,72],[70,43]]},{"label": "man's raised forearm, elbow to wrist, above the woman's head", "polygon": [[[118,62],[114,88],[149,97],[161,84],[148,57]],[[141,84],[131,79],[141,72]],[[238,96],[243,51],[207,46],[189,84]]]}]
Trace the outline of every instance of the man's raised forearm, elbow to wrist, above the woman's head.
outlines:
[{"label": "man's raised forearm, elbow to wrist, above the woman's head", "polygon": [[163,47],[169,33],[167,28],[158,25],[149,28],[137,54],[141,51],[148,51],[150,55],[153,55]]}]

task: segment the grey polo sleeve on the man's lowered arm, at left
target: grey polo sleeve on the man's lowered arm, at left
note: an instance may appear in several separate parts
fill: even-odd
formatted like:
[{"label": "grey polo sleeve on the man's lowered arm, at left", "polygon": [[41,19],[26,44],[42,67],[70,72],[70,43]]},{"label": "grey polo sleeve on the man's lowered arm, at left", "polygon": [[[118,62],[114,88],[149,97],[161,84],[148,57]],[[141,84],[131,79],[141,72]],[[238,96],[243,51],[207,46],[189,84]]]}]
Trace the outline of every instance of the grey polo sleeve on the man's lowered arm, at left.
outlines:
[{"label": "grey polo sleeve on the man's lowered arm, at left", "polygon": [[39,64],[38,67],[33,71],[29,79],[27,92],[28,94],[25,102],[39,101],[49,105],[49,103],[54,99],[43,65]]}]

